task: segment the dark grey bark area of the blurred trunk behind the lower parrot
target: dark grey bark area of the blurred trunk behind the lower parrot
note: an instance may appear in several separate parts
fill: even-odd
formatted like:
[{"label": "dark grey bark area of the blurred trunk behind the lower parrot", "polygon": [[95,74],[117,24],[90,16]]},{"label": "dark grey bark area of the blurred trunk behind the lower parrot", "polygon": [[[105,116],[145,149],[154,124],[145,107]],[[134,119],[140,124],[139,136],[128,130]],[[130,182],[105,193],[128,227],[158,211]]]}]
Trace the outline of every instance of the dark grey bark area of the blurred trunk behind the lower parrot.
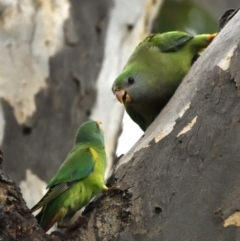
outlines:
[{"label": "dark grey bark area of the blurred trunk behind the lower parrot", "polygon": [[[47,88],[36,96],[37,111],[33,118],[20,126],[12,108],[4,103],[4,168],[16,182],[25,178],[26,167],[49,180],[71,149],[77,128],[88,120],[95,103],[95,82],[101,68],[111,4],[108,0],[70,3],[65,46],[50,61]],[[46,168],[43,160],[51,165]]]}]

